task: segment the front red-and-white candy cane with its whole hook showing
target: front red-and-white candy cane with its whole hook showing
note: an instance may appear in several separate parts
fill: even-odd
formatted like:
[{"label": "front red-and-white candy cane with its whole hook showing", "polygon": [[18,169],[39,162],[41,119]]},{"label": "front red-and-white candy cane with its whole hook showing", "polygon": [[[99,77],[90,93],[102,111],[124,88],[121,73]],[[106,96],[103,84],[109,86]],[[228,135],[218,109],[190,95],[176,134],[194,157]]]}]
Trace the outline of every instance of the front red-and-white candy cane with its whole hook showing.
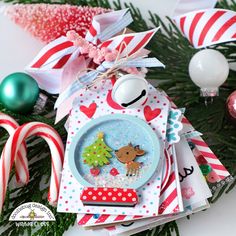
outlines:
[{"label": "front red-and-white candy cane with its whole hook showing", "polygon": [[0,211],[4,203],[9,174],[12,163],[16,158],[17,151],[22,142],[30,136],[40,136],[49,145],[52,158],[51,180],[48,193],[48,201],[56,205],[59,195],[60,178],[64,159],[64,147],[58,133],[49,125],[39,122],[31,122],[16,129],[14,135],[10,136],[2,152],[0,160]]}]

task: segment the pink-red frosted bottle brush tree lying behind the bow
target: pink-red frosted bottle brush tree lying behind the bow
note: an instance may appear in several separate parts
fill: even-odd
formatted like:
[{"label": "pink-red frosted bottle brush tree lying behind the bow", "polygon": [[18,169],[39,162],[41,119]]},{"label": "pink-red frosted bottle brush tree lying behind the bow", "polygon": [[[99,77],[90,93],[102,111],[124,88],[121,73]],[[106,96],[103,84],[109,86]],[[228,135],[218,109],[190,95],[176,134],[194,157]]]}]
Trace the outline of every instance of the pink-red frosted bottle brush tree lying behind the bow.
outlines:
[{"label": "pink-red frosted bottle brush tree lying behind the bow", "polygon": [[101,7],[55,4],[16,4],[6,8],[6,15],[45,43],[75,30],[85,36],[95,15],[110,11]]}]

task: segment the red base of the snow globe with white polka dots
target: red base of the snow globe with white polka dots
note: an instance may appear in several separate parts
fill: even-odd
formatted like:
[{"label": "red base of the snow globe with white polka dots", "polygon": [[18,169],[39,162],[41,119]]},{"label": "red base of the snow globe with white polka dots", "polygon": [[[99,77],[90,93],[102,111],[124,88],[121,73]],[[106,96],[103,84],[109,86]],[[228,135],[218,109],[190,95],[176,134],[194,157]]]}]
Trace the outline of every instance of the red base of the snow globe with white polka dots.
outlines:
[{"label": "red base of the snow globe with white polka dots", "polygon": [[134,189],[86,187],[80,200],[84,205],[135,206],[138,195]]}]

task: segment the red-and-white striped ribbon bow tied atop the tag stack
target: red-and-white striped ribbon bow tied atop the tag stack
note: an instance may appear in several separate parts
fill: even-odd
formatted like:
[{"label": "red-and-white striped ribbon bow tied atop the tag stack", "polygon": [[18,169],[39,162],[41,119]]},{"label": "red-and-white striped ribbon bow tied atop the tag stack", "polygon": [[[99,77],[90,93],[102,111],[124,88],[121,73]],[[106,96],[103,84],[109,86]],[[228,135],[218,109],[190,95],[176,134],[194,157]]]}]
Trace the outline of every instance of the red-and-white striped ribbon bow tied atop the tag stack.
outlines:
[{"label": "red-and-white striped ribbon bow tied atop the tag stack", "polygon": [[[131,56],[144,49],[158,29],[146,32],[122,34],[131,22],[129,9],[109,12],[95,16],[89,28],[86,40],[97,48],[106,47],[119,51],[119,57]],[[113,38],[112,38],[113,37]],[[49,93],[63,92],[66,86],[73,84],[79,71],[85,71],[90,59],[80,53],[81,48],[62,36],[45,46],[26,71],[34,77],[40,88]],[[63,82],[62,82],[63,78]],[[67,115],[72,108],[75,96],[70,96],[58,107],[56,121]]]}]

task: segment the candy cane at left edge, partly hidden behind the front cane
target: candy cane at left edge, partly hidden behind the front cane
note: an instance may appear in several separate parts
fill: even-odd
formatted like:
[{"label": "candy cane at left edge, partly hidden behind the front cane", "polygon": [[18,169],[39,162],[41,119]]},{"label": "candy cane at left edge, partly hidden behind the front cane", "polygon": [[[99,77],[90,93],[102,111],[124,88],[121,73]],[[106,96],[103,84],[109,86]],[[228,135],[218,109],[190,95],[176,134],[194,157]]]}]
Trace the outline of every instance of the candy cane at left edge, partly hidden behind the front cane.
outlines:
[{"label": "candy cane at left edge, partly hidden behind the front cane", "polygon": [[[12,135],[19,125],[12,117],[4,113],[0,113],[0,127],[6,129],[9,135]],[[20,150],[17,153],[15,159],[15,168],[17,182],[27,184],[29,181],[29,171],[25,143],[21,145]]]}]

